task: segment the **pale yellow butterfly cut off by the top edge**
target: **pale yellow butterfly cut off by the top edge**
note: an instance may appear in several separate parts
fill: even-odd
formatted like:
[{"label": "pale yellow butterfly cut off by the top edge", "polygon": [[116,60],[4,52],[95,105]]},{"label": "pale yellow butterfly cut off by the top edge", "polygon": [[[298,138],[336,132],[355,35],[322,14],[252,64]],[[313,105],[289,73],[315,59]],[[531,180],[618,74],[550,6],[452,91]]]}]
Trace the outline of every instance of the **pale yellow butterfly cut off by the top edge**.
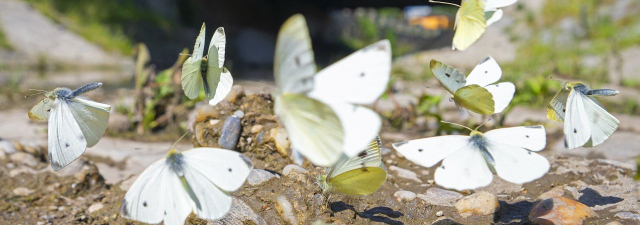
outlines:
[{"label": "pale yellow butterfly cut off by the top edge", "polygon": [[[456,13],[456,33],[451,45],[453,50],[465,50],[483,35],[486,27],[502,18],[502,8],[516,3],[517,0],[463,0]],[[431,3],[443,3],[429,1]]]}]

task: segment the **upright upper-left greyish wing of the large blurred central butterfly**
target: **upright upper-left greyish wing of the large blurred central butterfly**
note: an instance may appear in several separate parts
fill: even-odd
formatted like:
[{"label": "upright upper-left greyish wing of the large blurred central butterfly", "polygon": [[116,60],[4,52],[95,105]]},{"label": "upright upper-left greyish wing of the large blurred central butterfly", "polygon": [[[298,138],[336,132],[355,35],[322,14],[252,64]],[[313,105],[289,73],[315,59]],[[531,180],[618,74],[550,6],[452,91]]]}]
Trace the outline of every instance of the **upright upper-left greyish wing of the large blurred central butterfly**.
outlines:
[{"label": "upright upper-left greyish wing of the large blurred central butterfly", "polygon": [[300,14],[293,15],[280,27],[273,73],[282,93],[306,93],[314,87],[316,62],[307,22]]}]

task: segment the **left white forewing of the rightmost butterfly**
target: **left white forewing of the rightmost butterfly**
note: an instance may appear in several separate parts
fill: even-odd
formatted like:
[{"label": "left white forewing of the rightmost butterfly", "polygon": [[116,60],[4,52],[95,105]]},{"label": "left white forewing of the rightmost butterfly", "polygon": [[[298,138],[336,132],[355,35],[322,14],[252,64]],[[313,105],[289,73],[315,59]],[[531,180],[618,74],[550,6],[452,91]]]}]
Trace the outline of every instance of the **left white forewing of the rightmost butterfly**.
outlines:
[{"label": "left white forewing of the rightmost butterfly", "polygon": [[564,115],[564,148],[578,148],[591,138],[591,126],[584,99],[580,91],[571,89]]}]

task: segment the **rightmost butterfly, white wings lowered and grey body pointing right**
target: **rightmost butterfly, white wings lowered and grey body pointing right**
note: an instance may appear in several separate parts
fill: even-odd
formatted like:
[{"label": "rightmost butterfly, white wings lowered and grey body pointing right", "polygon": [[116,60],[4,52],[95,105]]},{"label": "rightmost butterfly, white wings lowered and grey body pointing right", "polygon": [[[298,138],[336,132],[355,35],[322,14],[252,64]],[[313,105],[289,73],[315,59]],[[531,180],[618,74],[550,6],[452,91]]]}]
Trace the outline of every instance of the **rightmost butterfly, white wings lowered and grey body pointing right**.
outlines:
[{"label": "rightmost butterfly, white wings lowered and grey body pointing right", "polygon": [[589,89],[580,82],[564,83],[547,109],[547,118],[564,123],[564,148],[593,147],[611,137],[620,121],[594,97],[619,93],[614,89]]}]

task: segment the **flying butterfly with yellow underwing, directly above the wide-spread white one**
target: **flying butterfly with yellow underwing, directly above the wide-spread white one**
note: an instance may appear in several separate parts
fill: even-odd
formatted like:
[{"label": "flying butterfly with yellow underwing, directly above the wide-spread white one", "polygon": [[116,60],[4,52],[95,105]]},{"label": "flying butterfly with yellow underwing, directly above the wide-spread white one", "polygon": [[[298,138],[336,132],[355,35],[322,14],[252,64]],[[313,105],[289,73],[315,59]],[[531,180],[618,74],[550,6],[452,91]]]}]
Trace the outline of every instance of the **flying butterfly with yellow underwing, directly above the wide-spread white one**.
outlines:
[{"label": "flying butterfly with yellow underwing, directly above the wide-spread white one", "polygon": [[456,105],[479,114],[500,113],[509,105],[515,93],[511,82],[493,84],[502,77],[502,69],[491,56],[476,65],[468,77],[435,59],[429,63],[436,79],[453,95]]}]

